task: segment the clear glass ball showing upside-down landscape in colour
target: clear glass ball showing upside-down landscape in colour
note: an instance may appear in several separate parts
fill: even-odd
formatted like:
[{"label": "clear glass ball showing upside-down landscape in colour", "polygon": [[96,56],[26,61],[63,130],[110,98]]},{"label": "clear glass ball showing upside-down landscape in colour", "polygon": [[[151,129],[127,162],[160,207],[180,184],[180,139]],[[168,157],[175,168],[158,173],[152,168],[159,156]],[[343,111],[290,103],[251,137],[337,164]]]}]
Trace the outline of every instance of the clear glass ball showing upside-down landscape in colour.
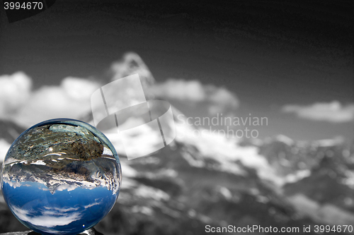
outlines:
[{"label": "clear glass ball showing upside-down landscape in colour", "polygon": [[40,234],[79,234],[110,212],[121,184],[120,160],[108,138],[74,119],[24,131],[1,171],[13,215]]}]

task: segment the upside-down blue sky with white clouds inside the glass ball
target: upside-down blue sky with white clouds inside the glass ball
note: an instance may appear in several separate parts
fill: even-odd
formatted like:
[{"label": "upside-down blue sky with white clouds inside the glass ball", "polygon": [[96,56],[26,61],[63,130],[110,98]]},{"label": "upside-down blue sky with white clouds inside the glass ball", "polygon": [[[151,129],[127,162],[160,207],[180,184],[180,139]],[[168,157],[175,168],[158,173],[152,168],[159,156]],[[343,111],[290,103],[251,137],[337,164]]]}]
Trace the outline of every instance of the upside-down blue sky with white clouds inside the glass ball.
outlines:
[{"label": "upside-down blue sky with white clouds inside the glass ball", "polygon": [[110,211],[116,199],[105,187],[77,187],[52,194],[37,182],[23,182],[16,187],[4,183],[4,195],[14,215],[26,226],[47,232],[92,227]]}]

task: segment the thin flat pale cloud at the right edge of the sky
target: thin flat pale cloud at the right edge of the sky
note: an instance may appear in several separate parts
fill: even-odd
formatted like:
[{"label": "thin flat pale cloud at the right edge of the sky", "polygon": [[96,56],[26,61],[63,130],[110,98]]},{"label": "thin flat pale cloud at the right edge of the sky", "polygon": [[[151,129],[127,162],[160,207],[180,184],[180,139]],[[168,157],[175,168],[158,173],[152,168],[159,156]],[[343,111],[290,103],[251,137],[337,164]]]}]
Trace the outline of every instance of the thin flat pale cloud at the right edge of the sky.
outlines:
[{"label": "thin flat pale cloud at the right edge of the sky", "polygon": [[354,120],[354,104],[343,106],[338,101],[329,103],[317,102],[311,105],[287,104],[282,112],[294,113],[299,118],[315,121],[343,123]]}]

